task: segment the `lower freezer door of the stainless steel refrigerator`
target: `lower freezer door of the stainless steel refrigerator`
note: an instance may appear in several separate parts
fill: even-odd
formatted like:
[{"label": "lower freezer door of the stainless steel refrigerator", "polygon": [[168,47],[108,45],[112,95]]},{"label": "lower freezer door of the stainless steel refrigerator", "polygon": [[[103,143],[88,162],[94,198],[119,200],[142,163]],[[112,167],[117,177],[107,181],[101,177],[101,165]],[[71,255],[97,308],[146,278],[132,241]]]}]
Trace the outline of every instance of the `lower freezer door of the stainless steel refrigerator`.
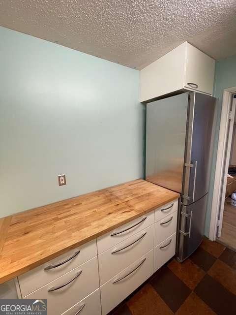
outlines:
[{"label": "lower freezer door of the stainless steel refrigerator", "polygon": [[180,261],[191,255],[202,243],[207,197],[208,194],[189,206],[181,206],[179,246],[177,252],[177,257]]}]

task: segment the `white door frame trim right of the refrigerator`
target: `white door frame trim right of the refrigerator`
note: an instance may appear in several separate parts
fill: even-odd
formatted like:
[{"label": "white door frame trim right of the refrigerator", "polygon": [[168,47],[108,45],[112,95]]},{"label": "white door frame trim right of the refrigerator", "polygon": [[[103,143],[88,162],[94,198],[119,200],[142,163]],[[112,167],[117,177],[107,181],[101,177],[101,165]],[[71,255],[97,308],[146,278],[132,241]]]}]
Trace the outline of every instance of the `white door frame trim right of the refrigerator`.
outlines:
[{"label": "white door frame trim right of the refrigerator", "polygon": [[[217,159],[215,168],[215,179],[213,197],[211,203],[211,215],[210,215],[210,228],[209,228],[209,239],[215,241],[217,238],[217,226],[219,221],[219,213],[223,216],[223,205],[222,205],[222,185],[225,174],[225,154],[227,148],[227,137],[229,127],[229,115],[231,109],[232,95],[236,94],[236,87],[228,88],[224,90],[221,118],[220,118],[220,131],[218,138],[218,149]],[[234,119],[234,118],[233,118]],[[229,153],[230,154],[230,153]],[[222,223],[222,222],[221,222]]]}]

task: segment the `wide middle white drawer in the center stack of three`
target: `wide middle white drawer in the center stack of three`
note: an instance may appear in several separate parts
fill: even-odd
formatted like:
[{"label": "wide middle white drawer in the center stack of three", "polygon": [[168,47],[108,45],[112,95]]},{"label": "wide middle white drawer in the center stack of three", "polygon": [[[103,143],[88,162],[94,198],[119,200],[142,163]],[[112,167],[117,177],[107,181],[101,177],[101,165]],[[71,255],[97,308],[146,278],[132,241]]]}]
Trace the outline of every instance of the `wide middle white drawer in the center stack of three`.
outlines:
[{"label": "wide middle white drawer in the center stack of three", "polygon": [[154,225],[98,255],[100,284],[104,284],[153,249]]}]

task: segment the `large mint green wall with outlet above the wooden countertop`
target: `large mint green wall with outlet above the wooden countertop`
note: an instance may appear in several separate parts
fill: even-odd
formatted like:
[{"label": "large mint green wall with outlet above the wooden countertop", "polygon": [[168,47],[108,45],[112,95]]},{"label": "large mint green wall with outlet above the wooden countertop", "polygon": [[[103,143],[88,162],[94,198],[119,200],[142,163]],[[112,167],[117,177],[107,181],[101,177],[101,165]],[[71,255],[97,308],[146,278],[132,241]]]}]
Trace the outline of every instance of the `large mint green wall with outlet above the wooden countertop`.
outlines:
[{"label": "large mint green wall with outlet above the wooden countertop", "polygon": [[138,70],[0,27],[0,217],[144,176],[138,99]]}]

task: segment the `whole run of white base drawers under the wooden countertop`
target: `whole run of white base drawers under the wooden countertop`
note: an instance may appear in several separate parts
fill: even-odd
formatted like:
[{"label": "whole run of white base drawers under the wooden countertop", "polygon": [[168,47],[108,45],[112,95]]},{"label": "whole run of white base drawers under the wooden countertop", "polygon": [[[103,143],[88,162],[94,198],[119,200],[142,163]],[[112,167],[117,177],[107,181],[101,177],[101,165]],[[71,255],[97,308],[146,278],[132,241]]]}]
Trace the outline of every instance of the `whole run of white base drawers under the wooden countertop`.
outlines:
[{"label": "whole run of white base drawers under the wooden countertop", "polygon": [[19,298],[48,315],[106,315],[176,251],[178,200],[21,275]]}]

